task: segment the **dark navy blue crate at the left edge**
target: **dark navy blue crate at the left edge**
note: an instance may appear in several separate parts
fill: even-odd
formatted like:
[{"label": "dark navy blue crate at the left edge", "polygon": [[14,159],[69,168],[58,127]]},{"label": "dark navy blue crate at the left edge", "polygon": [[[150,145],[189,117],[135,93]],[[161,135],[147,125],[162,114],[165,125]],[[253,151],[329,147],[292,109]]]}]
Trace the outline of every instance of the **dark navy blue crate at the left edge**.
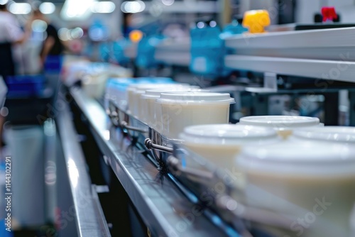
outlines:
[{"label": "dark navy blue crate at the left edge", "polygon": [[40,96],[45,89],[43,75],[16,75],[6,78],[8,96],[31,97]]}]

